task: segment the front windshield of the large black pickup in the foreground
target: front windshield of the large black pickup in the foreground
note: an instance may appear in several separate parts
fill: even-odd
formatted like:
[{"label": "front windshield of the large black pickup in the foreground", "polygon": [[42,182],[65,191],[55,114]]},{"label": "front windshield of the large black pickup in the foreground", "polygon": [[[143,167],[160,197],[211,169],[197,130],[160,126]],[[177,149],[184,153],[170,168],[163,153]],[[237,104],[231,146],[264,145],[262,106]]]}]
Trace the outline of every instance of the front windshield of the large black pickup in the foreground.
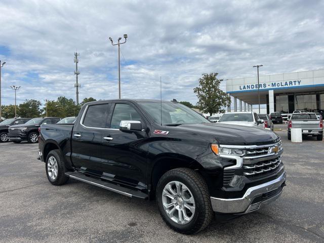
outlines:
[{"label": "front windshield of the large black pickup in the foreground", "polygon": [[[158,102],[139,103],[158,124],[161,123],[161,104]],[[162,103],[162,125],[210,123],[204,116],[179,103]]]}]

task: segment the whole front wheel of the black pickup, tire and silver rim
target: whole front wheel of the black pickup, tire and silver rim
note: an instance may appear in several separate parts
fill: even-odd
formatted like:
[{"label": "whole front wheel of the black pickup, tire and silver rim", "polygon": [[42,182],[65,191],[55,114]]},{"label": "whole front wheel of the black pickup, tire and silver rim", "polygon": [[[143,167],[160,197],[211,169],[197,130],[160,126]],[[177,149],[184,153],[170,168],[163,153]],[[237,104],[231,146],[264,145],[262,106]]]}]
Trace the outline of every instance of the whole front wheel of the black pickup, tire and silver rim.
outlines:
[{"label": "whole front wheel of the black pickup, tire and silver rim", "polygon": [[167,225],[184,234],[205,229],[214,216],[204,178],[188,168],[168,171],[160,178],[156,201]]}]

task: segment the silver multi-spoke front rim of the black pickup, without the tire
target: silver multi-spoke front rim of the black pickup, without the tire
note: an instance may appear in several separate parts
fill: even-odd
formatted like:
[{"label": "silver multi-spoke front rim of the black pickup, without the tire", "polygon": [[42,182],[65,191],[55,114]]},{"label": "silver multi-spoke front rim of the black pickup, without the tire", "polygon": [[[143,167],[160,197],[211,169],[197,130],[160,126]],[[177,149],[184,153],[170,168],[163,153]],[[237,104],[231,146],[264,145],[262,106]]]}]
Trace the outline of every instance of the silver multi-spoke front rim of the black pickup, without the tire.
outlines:
[{"label": "silver multi-spoke front rim of the black pickup, without the tire", "polygon": [[171,181],[164,187],[162,203],[168,217],[178,224],[187,224],[194,216],[193,195],[182,182]]}]

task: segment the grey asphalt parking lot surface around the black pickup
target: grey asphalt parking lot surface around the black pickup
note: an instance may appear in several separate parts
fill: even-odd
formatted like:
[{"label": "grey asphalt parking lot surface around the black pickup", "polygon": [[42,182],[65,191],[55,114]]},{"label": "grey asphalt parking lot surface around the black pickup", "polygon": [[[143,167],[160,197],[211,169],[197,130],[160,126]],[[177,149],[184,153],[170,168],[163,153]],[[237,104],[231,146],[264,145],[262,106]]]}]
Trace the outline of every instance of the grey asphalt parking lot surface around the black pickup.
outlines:
[{"label": "grey asphalt parking lot surface around the black pickup", "polygon": [[169,229],[154,201],[72,179],[51,185],[37,144],[0,144],[0,242],[323,242],[324,142],[277,133],[288,173],[281,197],[191,236]]}]

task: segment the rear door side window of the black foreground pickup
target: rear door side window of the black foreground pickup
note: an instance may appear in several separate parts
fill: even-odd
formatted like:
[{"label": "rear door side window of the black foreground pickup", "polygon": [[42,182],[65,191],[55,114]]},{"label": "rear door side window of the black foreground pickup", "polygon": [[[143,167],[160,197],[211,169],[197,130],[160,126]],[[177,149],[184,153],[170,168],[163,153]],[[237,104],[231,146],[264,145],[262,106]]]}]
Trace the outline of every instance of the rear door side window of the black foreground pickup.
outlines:
[{"label": "rear door side window of the black foreground pickup", "polygon": [[83,125],[92,128],[104,128],[106,124],[106,112],[108,104],[91,105],[88,107]]}]

